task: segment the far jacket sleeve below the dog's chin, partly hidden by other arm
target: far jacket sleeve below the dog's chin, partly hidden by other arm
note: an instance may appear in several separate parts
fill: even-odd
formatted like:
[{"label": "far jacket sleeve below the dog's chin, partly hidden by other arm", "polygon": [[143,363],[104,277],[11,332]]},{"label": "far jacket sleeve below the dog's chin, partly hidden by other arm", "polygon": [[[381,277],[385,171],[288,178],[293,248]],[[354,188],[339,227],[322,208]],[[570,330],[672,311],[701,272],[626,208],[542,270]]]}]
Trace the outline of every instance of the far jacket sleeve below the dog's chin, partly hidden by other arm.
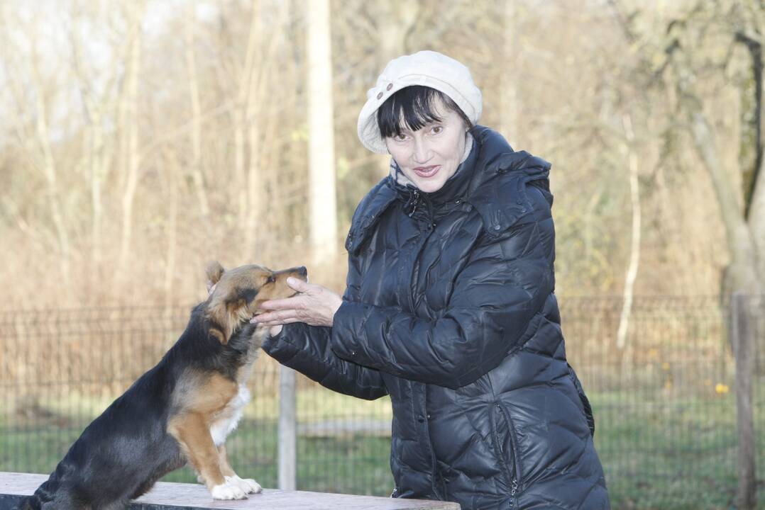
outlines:
[{"label": "far jacket sleeve below the dog's chin, partly hidden by other arm", "polygon": [[[350,266],[353,266],[350,264]],[[353,297],[353,267],[343,299]],[[275,337],[263,342],[263,350],[279,363],[303,373],[321,386],[360,399],[374,400],[387,395],[378,370],[337,357],[330,348],[332,328],[301,322],[285,324]]]}]

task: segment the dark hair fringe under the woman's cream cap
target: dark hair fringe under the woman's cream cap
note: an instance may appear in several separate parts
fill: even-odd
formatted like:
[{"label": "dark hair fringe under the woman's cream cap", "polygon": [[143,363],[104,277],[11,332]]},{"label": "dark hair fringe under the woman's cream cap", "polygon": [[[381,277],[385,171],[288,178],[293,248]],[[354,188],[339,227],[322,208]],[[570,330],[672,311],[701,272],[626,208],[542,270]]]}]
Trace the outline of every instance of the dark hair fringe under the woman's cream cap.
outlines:
[{"label": "dark hair fringe under the woman's cream cap", "polygon": [[456,111],[468,128],[473,127],[462,108],[448,95],[430,87],[413,85],[399,90],[377,108],[377,127],[380,134],[383,138],[401,134],[402,119],[412,131],[417,131],[428,122],[444,120],[438,116],[435,104],[437,99],[440,99],[448,110]]}]

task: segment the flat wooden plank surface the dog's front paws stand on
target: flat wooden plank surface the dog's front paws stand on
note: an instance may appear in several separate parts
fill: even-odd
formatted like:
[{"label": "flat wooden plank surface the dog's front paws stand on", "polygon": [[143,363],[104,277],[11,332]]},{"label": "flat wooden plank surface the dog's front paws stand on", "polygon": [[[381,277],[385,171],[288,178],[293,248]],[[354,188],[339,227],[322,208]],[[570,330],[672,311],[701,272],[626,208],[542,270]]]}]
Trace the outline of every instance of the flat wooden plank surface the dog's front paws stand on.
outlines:
[{"label": "flat wooden plank surface the dog's front paws stand on", "polygon": [[[47,479],[47,475],[0,472],[0,510],[10,510],[21,499],[31,495]],[[239,501],[214,501],[204,486],[196,483],[158,483],[151,492],[132,502],[130,510],[460,510],[451,502],[422,499],[392,499],[369,495],[330,494],[326,492],[264,489]]]}]

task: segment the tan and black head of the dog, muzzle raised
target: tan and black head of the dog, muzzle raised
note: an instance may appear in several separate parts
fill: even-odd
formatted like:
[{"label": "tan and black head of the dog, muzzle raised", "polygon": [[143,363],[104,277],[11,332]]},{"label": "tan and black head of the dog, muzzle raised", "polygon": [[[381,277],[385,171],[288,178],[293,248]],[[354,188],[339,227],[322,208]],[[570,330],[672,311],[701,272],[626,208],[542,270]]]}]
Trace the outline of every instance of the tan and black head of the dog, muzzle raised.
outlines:
[{"label": "tan and black head of the dog, muzzle raised", "polygon": [[239,326],[262,311],[262,302],[297,294],[287,285],[290,276],[307,281],[308,271],[302,266],[272,271],[255,264],[224,270],[220,263],[211,262],[207,266],[207,286],[214,286],[207,298],[210,334],[227,344]]}]

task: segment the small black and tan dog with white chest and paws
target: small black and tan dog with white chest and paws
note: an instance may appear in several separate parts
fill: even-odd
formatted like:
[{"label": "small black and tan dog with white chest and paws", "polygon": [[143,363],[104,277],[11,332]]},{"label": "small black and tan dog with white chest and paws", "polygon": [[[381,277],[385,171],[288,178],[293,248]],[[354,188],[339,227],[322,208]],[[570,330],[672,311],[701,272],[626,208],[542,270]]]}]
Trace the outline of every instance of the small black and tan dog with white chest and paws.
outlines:
[{"label": "small black and tan dog with white chest and paws", "polygon": [[157,365],[112,402],[19,510],[117,510],[187,462],[213,499],[260,492],[236,475],[224,441],[249,401],[246,382],[269,328],[250,324],[262,302],[295,295],[293,276],[256,265],[207,267],[207,301]]}]

